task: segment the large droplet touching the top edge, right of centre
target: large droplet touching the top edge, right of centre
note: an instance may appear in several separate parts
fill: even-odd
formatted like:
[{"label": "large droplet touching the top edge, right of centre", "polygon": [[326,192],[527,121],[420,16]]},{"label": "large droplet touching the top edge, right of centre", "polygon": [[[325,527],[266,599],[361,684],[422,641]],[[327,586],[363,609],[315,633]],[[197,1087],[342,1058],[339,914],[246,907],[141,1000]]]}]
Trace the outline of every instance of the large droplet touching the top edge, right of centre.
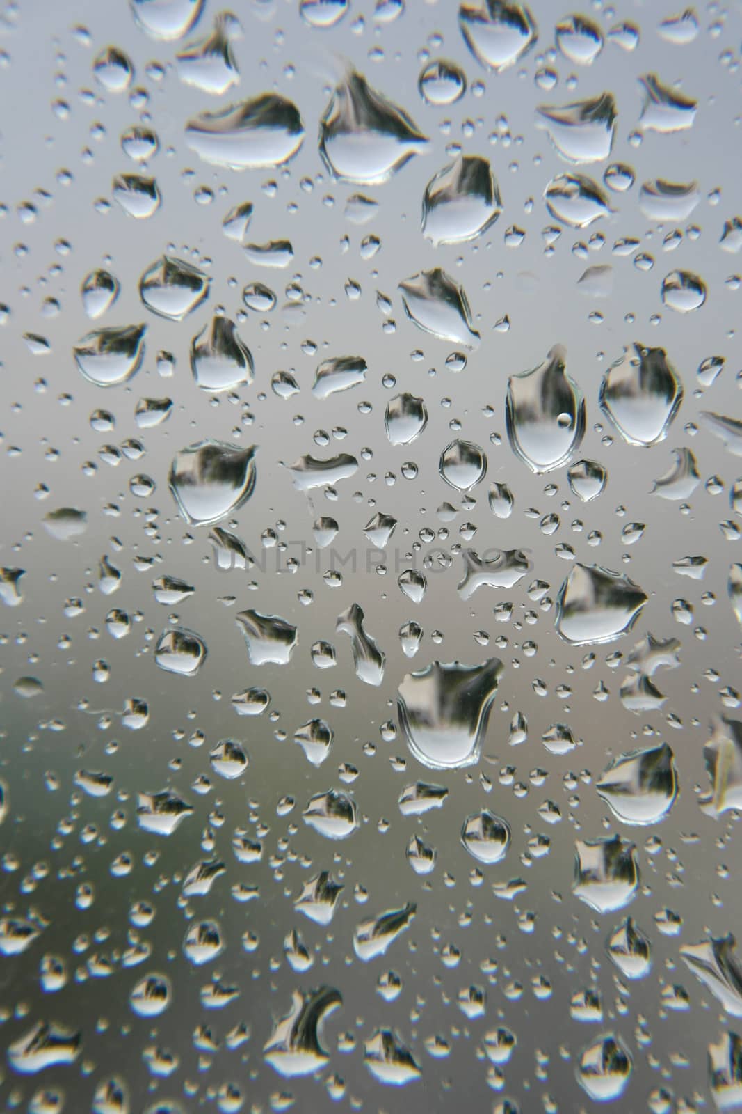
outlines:
[{"label": "large droplet touching the top edge, right of centre", "polygon": [[482,66],[499,72],[514,66],[538,38],[536,22],[525,4],[486,0],[483,8],[463,3],[458,26],[466,46]]}]

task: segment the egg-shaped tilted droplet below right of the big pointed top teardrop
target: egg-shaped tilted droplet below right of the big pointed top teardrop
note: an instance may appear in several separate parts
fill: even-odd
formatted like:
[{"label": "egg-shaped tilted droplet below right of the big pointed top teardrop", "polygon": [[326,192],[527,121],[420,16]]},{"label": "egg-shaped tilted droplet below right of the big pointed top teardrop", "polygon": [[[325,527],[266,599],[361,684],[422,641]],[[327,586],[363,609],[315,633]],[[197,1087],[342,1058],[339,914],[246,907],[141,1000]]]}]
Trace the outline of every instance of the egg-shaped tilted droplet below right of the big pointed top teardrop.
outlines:
[{"label": "egg-shaped tilted droplet below right of the big pointed top teardrop", "polygon": [[431,178],[423,198],[423,232],[438,244],[475,240],[502,212],[499,188],[486,158],[465,155]]}]

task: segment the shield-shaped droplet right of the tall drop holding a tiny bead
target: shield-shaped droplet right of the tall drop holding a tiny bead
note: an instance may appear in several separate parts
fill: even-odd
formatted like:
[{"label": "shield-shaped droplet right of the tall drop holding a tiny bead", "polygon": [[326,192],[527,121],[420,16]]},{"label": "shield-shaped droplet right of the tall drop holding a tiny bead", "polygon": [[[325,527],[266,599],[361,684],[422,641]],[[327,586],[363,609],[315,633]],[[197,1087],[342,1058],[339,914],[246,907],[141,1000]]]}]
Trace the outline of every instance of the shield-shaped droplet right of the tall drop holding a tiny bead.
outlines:
[{"label": "shield-shaped droplet right of the tall drop holding a tiny bead", "polygon": [[683,387],[664,349],[624,349],[601,384],[601,409],[630,444],[654,444],[667,433]]}]

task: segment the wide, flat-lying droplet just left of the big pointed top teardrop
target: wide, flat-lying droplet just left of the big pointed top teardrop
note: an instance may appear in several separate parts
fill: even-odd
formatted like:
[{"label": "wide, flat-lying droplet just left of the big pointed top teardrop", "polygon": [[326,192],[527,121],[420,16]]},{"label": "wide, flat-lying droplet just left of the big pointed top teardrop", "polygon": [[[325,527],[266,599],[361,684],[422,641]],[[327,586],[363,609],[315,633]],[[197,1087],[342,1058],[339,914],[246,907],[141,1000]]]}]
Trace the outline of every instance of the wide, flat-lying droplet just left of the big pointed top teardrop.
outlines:
[{"label": "wide, flat-lying droplet just left of the big pointed top teardrop", "polygon": [[186,126],[186,143],[199,158],[234,170],[280,166],[296,155],[303,140],[298,108],[274,92],[201,113]]}]

